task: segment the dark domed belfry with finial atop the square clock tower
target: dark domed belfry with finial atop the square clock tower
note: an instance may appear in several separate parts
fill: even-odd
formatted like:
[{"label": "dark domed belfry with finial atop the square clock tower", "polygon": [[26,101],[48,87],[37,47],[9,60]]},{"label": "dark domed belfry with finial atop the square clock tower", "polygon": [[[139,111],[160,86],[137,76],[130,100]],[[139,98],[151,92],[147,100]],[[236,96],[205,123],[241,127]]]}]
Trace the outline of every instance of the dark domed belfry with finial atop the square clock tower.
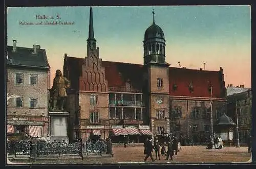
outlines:
[{"label": "dark domed belfry with finial atop the square clock tower", "polygon": [[165,62],[165,39],[162,29],[155,23],[153,13],[153,24],[148,27],[144,34],[144,65],[148,63],[159,63],[168,65]]}]

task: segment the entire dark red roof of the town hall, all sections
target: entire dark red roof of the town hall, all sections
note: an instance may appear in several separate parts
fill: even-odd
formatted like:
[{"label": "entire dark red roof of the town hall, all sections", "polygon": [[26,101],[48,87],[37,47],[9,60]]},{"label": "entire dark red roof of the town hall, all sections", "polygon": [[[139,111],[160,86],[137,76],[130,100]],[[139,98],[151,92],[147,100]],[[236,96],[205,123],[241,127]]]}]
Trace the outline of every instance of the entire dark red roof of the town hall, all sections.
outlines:
[{"label": "entire dark red roof of the town hall, all sections", "polygon": [[[79,76],[84,58],[65,57],[63,75],[71,81],[71,88],[78,90]],[[105,68],[105,78],[109,87],[125,88],[125,82],[130,80],[131,87],[137,91],[143,88],[144,67],[140,64],[102,61]],[[225,97],[225,82],[222,71],[196,70],[169,67],[169,94],[172,96],[210,97],[209,86],[212,84],[212,97]],[[189,91],[192,82],[194,92]],[[177,89],[174,90],[174,84]]]}]

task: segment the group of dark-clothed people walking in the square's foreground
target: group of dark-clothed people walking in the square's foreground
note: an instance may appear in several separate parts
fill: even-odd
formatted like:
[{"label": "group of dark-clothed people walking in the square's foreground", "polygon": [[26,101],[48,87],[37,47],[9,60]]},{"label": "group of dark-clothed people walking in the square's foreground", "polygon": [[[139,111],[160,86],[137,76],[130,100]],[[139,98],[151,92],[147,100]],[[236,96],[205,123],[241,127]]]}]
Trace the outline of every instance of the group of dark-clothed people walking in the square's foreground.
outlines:
[{"label": "group of dark-clothed people walking in the square's foreground", "polygon": [[[167,147],[167,151],[166,151]],[[160,152],[162,156],[166,156],[165,160],[168,160],[170,157],[170,160],[173,160],[174,155],[178,155],[178,141],[175,136],[173,138],[169,138],[168,142],[164,142],[162,145],[158,142],[158,139],[154,140],[154,143],[152,142],[152,138],[149,137],[146,139],[144,143],[144,154],[145,158],[144,161],[147,160],[148,157],[151,158],[152,161],[155,161],[156,159],[153,158],[152,152],[155,151],[156,159],[158,157],[158,160],[160,160]]]}]

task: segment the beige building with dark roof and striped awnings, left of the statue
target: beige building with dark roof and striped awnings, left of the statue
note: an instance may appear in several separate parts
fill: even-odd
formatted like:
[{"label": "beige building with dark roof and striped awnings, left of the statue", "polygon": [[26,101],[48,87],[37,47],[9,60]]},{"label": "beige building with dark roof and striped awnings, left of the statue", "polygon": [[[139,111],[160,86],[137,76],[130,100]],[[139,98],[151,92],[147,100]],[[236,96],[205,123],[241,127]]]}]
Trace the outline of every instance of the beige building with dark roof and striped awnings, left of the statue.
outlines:
[{"label": "beige building with dark roof and striped awnings, left of the statue", "polygon": [[24,133],[34,137],[49,134],[50,66],[46,51],[7,46],[7,93],[19,97],[7,104],[7,134]]}]

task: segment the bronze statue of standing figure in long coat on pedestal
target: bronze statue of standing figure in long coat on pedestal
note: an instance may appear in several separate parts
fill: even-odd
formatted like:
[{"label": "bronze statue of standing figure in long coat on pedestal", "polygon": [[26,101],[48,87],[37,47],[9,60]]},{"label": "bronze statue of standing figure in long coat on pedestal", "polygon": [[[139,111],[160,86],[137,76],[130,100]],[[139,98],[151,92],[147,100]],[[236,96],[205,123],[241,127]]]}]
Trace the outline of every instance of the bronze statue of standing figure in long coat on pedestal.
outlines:
[{"label": "bronze statue of standing figure in long coat on pedestal", "polygon": [[[63,110],[65,98],[67,97],[66,88],[70,87],[70,81],[62,76],[61,71],[58,69],[55,73],[53,85],[50,90],[52,100],[52,110]],[[59,101],[59,102],[57,102]],[[58,104],[57,104],[58,103]]]}]

